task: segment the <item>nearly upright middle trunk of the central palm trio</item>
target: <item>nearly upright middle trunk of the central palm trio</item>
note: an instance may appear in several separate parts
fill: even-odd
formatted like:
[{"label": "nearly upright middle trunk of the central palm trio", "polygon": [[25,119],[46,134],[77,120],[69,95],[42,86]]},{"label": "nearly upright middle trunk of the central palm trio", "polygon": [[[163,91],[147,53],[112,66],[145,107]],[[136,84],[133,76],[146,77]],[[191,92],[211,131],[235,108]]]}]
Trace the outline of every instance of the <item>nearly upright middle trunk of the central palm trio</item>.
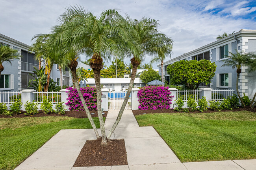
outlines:
[{"label": "nearly upright middle trunk of the central palm trio", "polygon": [[101,144],[106,145],[107,144],[106,132],[105,132],[104,120],[103,120],[102,110],[101,110],[100,70],[103,68],[103,60],[100,57],[100,53],[93,54],[90,65],[94,72],[94,80],[95,80],[95,86],[97,91],[97,112],[98,112],[98,118],[100,121],[100,132],[102,135]]}]

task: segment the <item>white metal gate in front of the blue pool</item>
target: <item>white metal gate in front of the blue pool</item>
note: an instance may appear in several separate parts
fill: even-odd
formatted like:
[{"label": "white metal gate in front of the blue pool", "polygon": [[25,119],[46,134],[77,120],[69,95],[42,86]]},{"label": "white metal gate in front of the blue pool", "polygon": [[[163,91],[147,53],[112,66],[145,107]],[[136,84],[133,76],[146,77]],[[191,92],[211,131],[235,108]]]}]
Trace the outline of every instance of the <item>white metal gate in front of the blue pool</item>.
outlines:
[{"label": "white metal gate in front of the blue pool", "polygon": [[[109,91],[108,92],[108,109],[109,110],[121,109],[126,93],[127,91]],[[128,110],[128,109],[132,109],[131,94],[125,106],[125,110]]]}]

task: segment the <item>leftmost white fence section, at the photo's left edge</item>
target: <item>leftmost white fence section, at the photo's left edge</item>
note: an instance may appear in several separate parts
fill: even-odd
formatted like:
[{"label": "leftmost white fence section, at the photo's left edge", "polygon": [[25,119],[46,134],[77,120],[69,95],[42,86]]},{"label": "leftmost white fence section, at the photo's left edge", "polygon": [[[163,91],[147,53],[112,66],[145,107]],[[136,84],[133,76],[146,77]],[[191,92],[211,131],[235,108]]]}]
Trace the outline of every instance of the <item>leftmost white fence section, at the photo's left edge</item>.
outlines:
[{"label": "leftmost white fence section, at the photo's left edge", "polygon": [[0,92],[0,102],[5,104],[12,104],[13,102],[21,101],[22,93],[19,91],[10,92],[10,91],[1,91]]}]

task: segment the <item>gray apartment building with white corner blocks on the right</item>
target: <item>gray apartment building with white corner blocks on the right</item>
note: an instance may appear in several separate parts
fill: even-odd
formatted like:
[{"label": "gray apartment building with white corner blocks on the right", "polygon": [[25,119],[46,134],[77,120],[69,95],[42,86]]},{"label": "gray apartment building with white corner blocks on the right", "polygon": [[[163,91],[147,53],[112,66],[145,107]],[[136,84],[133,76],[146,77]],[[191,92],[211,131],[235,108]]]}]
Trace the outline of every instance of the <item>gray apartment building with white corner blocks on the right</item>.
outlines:
[{"label": "gray apartment building with white corner blocks on the right", "polygon": [[[256,30],[241,29],[237,33],[225,37],[223,39],[217,40],[206,46],[202,46],[198,49],[180,55],[171,60],[164,62],[163,71],[165,80],[169,82],[169,75],[167,73],[167,66],[173,64],[174,62],[180,60],[210,60],[215,62],[217,65],[215,76],[213,80],[208,85],[208,87],[214,90],[218,89],[233,89],[236,90],[236,69],[231,67],[221,67],[226,59],[225,55],[230,55],[231,53],[238,52],[255,52],[256,51]],[[158,64],[159,73],[161,75],[161,64]],[[243,67],[242,73],[239,77],[238,89],[240,94],[245,93],[252,99],[254,93],[256,92],[256,72],[247,73],[247,68]],[[202,87],[205,87],[202,84]],[[236,91],[235,91],[236,93]]]}]

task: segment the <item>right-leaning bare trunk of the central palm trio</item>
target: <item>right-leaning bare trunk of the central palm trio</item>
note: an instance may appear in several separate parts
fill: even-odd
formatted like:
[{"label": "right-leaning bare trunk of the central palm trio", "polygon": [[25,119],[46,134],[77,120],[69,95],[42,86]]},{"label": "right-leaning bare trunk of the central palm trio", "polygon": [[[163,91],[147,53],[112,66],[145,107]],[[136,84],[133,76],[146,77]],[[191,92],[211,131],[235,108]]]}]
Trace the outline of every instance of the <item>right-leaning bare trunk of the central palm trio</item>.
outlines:
[{"label": "right-leaning bare trunk of the central palm trio", "polygon": [[108,136],[107,136],[107,139],[110,139],[111,135],[113,134],[113,132],[115,131],[115,128],[117,127],[119,121],[121,120],[121,117],[122,117],[122,113],[124,112],[124,108],[128,102],[128,99],[130,97],[130,93],[132,92],[132,86],[134,84],[134,79],[135,79],[135,76],[136,76],[136,72],[137,72],[137,68],[140,64],[140,61],[139,60],[136,60],[134,57],[131,59],[131,62],[132,62],[132,75],[131,75],[131,80],[130,80],[130,84],[129,84],[129,88],[127,90],[127,93],[125,95],[125,98],[124,98],[124,102],[122,103],[122,106],[121,106],[121,109],[119,110],[119,113],[118,113],[118,116],[117,116],[117,119],[115,120],[115,123],[113,124]]}]

